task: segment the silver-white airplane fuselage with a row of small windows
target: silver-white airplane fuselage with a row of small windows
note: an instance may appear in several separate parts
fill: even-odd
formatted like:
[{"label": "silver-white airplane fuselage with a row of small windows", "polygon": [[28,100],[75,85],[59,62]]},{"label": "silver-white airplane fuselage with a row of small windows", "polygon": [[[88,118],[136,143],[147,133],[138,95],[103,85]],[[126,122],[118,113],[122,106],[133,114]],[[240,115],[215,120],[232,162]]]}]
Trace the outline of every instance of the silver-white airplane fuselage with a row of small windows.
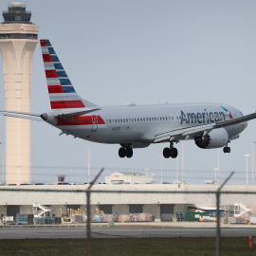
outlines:
[{"label": "silver-white airplane fuselage with a row of small windows", "polygon": [[[91,115],[69,119],[52,118],[46,121],[74,137],[100,143],[134,144],[134,147],[145,147],[154,143],[156,135],[166,131],[242,116],[238,109],[226,104],[184,103],[102,107]],[[227,126],[225,130],[232,139],[246,127],[247,122],[243,122]]]}]

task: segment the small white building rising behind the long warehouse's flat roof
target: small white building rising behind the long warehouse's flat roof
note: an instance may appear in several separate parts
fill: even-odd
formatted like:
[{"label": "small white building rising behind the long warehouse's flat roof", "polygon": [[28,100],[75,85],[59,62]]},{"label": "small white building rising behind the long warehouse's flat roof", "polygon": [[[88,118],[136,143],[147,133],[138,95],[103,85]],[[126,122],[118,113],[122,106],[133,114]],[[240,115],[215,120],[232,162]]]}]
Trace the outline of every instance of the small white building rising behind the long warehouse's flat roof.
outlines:
[{"label": "small white building rising behind the long warehouse's flat roof", "polygon": [[154,184],[154,176],[140,173],[117,172],[105,177],[106,184]]}]

